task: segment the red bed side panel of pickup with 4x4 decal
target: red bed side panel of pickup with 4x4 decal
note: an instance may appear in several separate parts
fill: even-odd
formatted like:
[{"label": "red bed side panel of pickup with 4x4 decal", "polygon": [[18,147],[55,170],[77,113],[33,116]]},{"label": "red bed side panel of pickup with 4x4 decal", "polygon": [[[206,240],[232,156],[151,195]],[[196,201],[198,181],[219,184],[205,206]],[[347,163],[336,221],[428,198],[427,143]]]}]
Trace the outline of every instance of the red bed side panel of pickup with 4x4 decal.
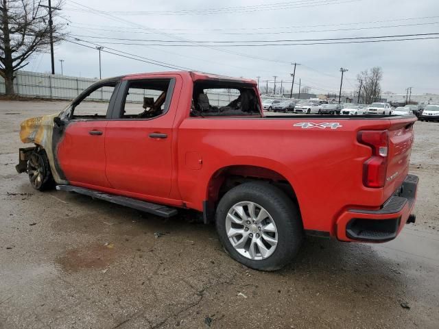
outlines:
[{"label": "red bed side panel of pickup with 4x4 decal", "polygon": [[[303,122],[340,127],[294,126]],[[337,215],[346,208],[375,209],[391,194],[392,187],[363,186],[363,163],[371,150],[357,142],[359,130],[389,126],[388,119],[188,118],[178,133],[179,190],[189,207],[202,210],[209,180],[219,169],[265,167],[292,184],[305,229],[332,231]],[[202,164],[187,164],[188,154],[202,158]]]}]

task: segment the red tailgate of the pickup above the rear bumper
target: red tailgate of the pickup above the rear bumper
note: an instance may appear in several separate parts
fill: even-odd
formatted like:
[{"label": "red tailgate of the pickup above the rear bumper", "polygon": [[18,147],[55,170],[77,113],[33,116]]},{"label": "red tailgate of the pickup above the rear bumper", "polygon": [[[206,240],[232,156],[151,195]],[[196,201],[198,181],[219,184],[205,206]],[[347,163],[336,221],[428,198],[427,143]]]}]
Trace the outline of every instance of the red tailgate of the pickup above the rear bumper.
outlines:
[{"label": "red tailgate of the pickup above the rear bumper", "polygon": [[385,197],[399,188],[409,171],[410,154],[414,141],[413,124],[416,117],[390,119],[388,167],[385,183]]}]

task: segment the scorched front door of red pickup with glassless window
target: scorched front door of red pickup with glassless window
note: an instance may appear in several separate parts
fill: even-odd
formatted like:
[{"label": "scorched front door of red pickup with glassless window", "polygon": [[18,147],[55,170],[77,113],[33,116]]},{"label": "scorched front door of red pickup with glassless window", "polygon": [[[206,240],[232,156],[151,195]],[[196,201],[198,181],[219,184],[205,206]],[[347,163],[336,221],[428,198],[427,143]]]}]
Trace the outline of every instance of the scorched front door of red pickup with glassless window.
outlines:
[{"label": "scorched front door of red pickup with glassless window", "polygon": [[64,118],[56,151],[58,163],[70,184],[110,187],[105,175],[105,137],[110,104],[117,81],[97,84],[73,101]]}]

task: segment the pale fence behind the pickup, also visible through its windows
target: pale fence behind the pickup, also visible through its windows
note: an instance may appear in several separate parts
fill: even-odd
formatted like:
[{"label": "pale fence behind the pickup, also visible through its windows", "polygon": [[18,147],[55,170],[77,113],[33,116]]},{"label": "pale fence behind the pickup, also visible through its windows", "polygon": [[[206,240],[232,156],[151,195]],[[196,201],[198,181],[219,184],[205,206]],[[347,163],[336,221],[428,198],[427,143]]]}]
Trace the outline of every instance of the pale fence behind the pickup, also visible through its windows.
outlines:
[{"label": "pale fence behind the pickup, also visible through its windows", "polygon": [[[97,82],[97,79],[86,77],[69,77],[67,75],[51,75],[49,73],[38,73],[30,71],[18,71],[14,79],[14,88],[17,95],[23,97],[38,97],[48,99],[73,99],[82,90]],[[97,91],[91,95],[94,100],[109,100],[110,90]],[[0,77],[0,95],[5,94],[5,81]],[[238,97],[232,90],[221,90],[219,93],[207,93],[209,101],[213,106],[226,106],[230,101]],[[131,101],[143,102],[143,96],[155,95],[132,95]],[[91,98],[89,98],[91,99]]]}]

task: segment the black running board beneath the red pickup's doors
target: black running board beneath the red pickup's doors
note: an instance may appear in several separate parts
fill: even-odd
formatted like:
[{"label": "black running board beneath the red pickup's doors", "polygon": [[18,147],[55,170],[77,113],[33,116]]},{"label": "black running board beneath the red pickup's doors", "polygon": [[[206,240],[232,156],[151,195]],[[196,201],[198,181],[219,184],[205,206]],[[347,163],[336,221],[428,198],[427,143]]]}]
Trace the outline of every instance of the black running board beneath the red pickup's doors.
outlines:
[{"label": "black running board beneath the red pickup's doors", "polygon": [[126,206],[141,210],[143,212],[148,212],[152,215],[157,215],[161,217],[169,218],[171,216],[177,215],[177,210],[175,208],[170,208],[163,206],[161,204],[153,204],[152,202],[145,202],[138,199],[132,199],[131,197],[122,197],[120,195],[112,195],[108,193],[103,193],[90,188],[83,188],[73,185],[57,185],[56,189],[58,191],[75,192],[89,197],[95,197],[96,199],[101,199],[104,201],[112,202],[113,204],[120,204],[121,206]]}]

